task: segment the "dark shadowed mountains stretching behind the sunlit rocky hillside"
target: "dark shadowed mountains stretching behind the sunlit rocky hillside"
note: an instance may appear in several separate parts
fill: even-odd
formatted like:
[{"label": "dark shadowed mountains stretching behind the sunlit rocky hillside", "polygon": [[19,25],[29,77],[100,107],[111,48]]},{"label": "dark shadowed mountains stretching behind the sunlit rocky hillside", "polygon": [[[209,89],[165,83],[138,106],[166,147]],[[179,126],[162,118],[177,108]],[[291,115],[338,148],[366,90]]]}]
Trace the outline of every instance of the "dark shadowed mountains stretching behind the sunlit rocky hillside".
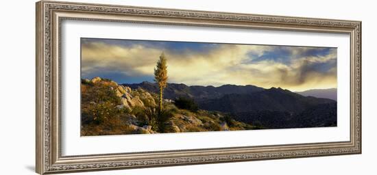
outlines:
[{"label": "dark shadowed mountains stretching behind the sunlit rocky hillside", "polygon": [[[123,84],[158,93],[158,85]],[[335,92],[335,96],[334,96]],[[266,128],[337,126],[336,89],[291,92],[255,85],[200,86],[168,83],[164,98],[193,98],[200,109],[230,113],[235,120]],[[335,100],[334,100],[335,99]]]}]

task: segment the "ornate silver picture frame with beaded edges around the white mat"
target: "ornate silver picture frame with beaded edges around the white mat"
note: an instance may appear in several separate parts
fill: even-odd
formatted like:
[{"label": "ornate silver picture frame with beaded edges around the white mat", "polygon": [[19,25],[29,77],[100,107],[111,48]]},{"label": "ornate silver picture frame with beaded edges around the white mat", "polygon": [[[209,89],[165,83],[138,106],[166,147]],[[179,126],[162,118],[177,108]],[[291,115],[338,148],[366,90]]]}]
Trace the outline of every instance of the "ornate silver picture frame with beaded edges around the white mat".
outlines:
[{"label": "ornate silver picture frame with beaded edges around the white mat", "polygon": [[[62,157],[60,23],[64,20],[348,33],[351,43],[350,141]],[[36,3],[36,172],[39,174],[339,154],[361,154],[361,21],[57,1]]]}]

